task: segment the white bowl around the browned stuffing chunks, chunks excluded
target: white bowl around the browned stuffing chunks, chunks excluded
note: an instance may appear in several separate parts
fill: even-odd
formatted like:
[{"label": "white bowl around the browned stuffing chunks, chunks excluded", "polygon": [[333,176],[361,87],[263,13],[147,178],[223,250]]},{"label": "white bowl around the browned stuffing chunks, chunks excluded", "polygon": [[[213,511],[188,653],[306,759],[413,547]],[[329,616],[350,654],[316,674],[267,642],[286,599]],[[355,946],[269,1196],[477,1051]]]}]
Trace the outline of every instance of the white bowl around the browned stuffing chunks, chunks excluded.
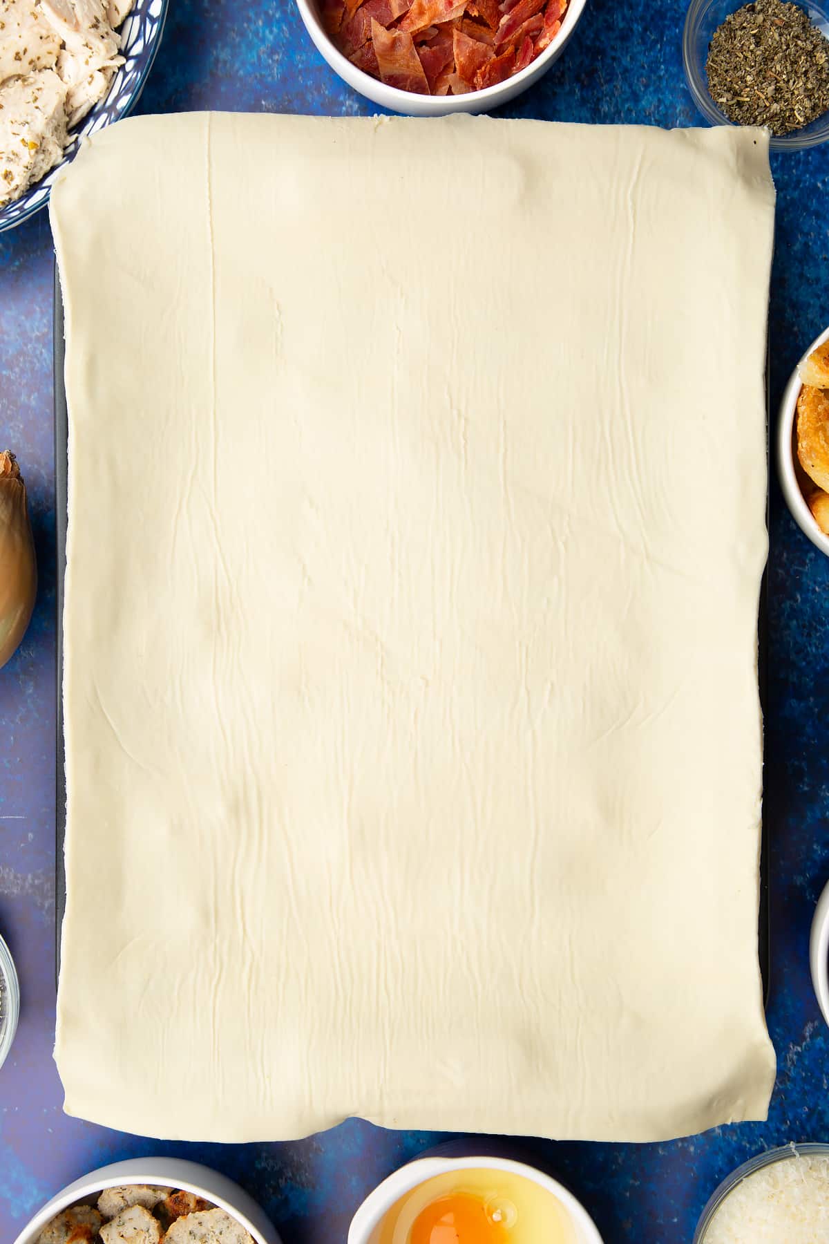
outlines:
[{"label": "white bowl around the browned stuffing chunks, chunks excluded", "polygon": [[82,1179],[77,1179],[52,1197],[35,1214],[29,1227],[22,1229],[15,1244],[34,1244],[46,1223],[62,1209],[87,1198],[93,1203],[104,1188],[119,1188],[129,1183],[150,1183],[193,1192],[240,1222],[256,1244],[280,1244],[276,1228],[237,1183],[219,1174],[218,1171],[211,1171],[210,1167],[178,1158],[129,1158],[127,1162],[114,1162],[112,1166],[85,1174]]}]

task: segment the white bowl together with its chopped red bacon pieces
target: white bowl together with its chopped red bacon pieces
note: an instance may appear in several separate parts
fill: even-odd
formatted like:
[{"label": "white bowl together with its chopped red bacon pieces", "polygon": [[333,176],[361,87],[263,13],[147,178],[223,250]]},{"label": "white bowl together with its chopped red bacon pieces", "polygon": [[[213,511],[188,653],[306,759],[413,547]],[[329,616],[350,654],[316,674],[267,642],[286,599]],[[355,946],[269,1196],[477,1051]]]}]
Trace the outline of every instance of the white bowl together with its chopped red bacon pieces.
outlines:
[{"label": "white bowl together with its chopped red bacon pieces", "polygon": [[297,0],[331,67],[415,117],[487,112],[564,51],[587,0]]}]

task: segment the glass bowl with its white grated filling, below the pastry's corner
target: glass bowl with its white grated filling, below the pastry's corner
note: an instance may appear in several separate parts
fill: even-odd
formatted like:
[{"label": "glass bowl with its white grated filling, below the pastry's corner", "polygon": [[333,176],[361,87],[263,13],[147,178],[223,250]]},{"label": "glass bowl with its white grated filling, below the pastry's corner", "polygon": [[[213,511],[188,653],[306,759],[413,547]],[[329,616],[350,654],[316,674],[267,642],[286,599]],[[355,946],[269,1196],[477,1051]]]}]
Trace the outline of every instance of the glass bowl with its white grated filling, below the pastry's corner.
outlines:
[{"label": "glass bowl with its white grated filling, below the pastry's corner", "polygon": [[824,1239],[829,1144],[784,1144],[737,1167],[702,1212],[694,1244]]}]

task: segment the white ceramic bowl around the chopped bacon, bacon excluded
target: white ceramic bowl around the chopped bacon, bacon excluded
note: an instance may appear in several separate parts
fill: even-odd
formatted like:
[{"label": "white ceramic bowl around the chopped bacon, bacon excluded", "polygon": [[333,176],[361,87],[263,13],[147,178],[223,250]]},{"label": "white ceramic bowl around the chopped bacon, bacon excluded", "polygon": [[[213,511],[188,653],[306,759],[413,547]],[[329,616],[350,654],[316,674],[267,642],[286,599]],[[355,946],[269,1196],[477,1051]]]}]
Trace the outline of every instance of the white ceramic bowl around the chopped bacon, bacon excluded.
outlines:
[{"label": "white ceramic bowl around the chopped bacon, bacon excluded", "polygon": [[297,0],[300,16],[306,30],[316,44],[319,52],[328,61],[334,73],[339,73],[343,82],[352,86],[360,95],[373,103],[379,103],[392,112],[403,112],[410,117],[444,117],[449,112],[488,112],[497,108],[508,100],[515,100],[517,95],[526,91],[528,86],[537,82],[547,72],[553,61],[564,51],[578,24],[587,0],[570,0],[562,29],[556,35],[552,44],[537,56],[526,70],[521,70],[513,77],[497,86],[487,86],[483,91],[470,91],[467,95],[415,95],[411,91],[400,91],[395,86],[387,86],[370,73],[364,73],[355,65],[337,51],[331,39],[323,30],[319,21],[317,0]]}]

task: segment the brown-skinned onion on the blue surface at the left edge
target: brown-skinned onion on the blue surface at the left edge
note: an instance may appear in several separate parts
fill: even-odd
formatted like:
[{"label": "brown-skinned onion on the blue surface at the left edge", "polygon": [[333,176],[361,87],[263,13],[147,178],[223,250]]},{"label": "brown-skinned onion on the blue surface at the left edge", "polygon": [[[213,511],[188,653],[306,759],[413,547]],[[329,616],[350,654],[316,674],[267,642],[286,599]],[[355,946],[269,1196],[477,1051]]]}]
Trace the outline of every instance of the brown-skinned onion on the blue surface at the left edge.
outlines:
[{"label": "brown-skinned onion on the blue surface at the left edge", "polygon": [[37,595],[26,485],[15,455],[0,453],[0,669],[26,633]]}]

